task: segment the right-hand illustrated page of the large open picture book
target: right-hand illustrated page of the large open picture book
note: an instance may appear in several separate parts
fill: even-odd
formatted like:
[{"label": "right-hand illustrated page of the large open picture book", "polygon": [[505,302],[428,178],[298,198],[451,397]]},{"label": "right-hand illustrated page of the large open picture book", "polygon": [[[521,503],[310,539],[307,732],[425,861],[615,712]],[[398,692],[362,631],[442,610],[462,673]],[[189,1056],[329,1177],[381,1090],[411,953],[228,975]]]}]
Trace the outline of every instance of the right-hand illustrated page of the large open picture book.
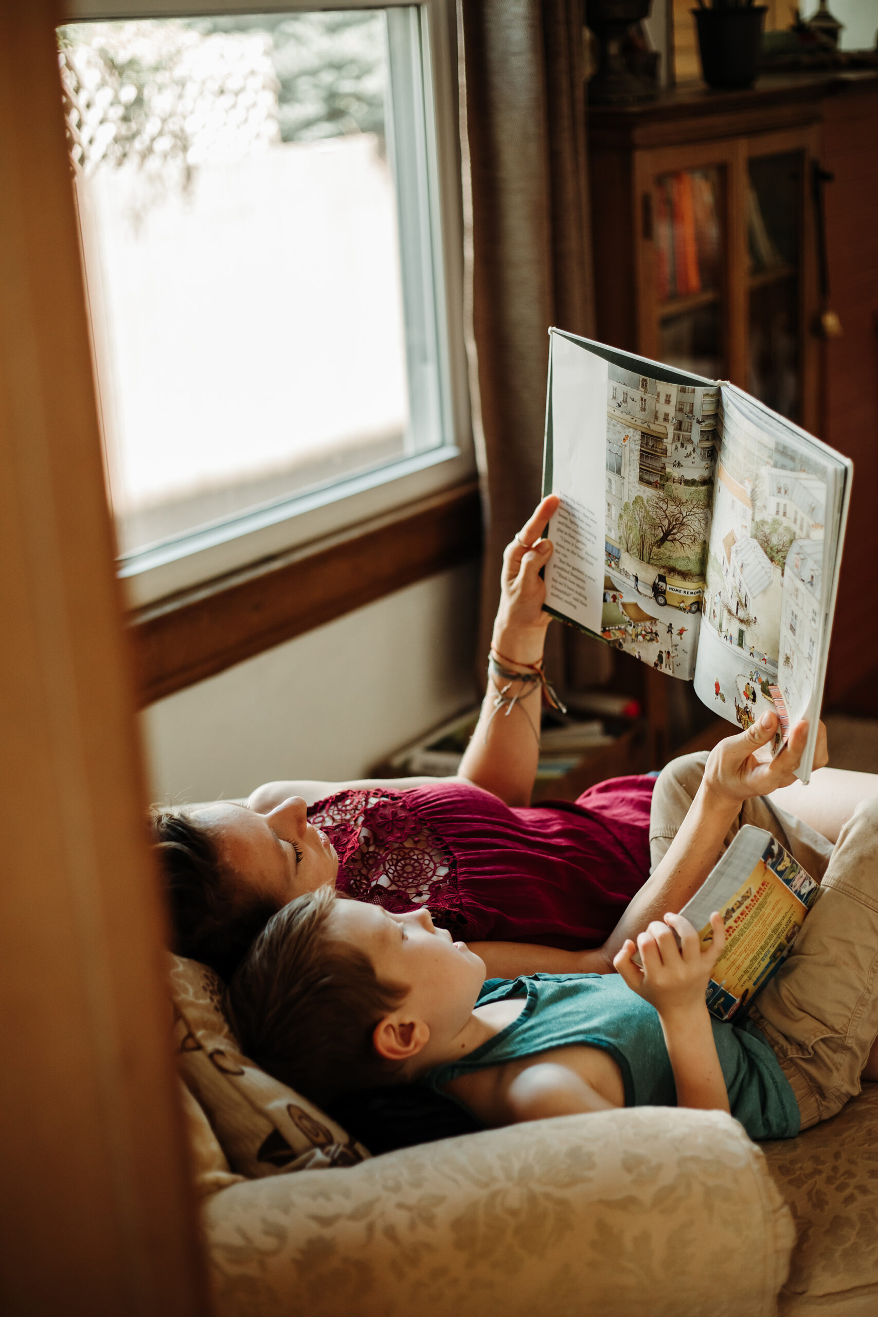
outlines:
[{"label": "right-hand illustrated page of the large open picture book", "polygon": [[761,431],[725,390],[695,690],[742,728],[779,715],[775,749],[816,690],[829,475],[792,436]]}]

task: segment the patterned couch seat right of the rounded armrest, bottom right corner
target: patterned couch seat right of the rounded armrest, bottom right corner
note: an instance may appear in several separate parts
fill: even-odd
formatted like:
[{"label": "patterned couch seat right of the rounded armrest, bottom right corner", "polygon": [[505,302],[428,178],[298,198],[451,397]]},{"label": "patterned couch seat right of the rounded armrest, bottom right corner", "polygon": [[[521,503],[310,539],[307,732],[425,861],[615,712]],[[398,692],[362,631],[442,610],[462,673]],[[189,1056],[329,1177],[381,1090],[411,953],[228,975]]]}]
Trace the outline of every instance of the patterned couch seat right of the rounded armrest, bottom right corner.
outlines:
[{"label": "patterned couch seat right of the rounded armrest, bottom right corner", "polygon": [[763,1143],[798,1242],[781,1317],[878,1312],[878,1084],[798,1139]]}]

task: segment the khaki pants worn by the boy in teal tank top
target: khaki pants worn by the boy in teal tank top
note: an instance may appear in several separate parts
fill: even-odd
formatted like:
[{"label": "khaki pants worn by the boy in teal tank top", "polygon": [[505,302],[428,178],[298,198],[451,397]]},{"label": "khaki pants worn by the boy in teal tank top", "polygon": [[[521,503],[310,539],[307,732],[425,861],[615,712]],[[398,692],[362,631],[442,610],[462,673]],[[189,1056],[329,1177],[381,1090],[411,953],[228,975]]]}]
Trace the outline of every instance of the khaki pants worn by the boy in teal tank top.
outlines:
[{"label": "khaki pants worn by the boy in teal tank top", "polygon": [[[662,769],[649,820],[653,868],[683,822],[706,763],[707,755],[684,755]],[[820,880],[792,951],[750,1006],[808,1129],[860,1092],[878,1036],[878,799],[857,806],[835,847],[766,797],[745,802],[724,846],[741,823],[771,832]]]}]

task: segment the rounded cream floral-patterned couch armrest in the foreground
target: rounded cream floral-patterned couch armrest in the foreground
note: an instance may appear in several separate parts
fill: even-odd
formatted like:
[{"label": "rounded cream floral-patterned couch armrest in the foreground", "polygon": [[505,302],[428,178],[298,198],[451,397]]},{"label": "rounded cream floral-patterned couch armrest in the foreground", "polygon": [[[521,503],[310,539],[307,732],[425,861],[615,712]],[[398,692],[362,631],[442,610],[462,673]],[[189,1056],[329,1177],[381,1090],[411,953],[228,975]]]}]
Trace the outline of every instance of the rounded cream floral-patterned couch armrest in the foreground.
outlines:
[{"label": "rounded cream floral-patterned couch armrest in the foreground", "polygon": [[217,1317],[770,1317],[795,1233],[744,1129],[640,1108],[233,1185]]}]

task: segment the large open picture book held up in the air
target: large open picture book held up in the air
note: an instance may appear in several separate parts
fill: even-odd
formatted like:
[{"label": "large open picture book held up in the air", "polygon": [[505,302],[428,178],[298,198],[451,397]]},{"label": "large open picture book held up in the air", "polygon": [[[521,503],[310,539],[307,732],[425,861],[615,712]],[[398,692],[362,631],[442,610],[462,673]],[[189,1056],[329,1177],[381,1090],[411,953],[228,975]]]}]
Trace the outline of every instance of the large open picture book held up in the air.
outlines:
[{"label": "large open picture book held up in the air", "polygon": [[550,329],[545,607],[813,763],[852,462],[735,385]]}]

